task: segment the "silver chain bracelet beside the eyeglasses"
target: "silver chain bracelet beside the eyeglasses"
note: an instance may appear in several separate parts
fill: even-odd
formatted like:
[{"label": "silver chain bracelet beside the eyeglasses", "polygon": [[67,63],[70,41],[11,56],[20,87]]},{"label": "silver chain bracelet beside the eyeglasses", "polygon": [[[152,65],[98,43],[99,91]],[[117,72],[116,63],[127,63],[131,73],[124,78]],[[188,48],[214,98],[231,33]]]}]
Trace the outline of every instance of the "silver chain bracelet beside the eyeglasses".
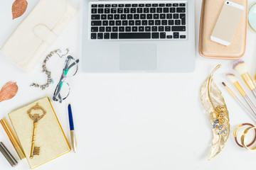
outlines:
[{"label": "silver chain bracelet beside the eyeglasses", "polygon": [[[67,52],[65,53],[65,55],[68,55],[68,52],[69,52],[68,48],[67,48],[66,50],[67,50]],[[65,55],[60,55],[60,53],[61,53],[61,50],[60,50],[60,49],[54,50],[54,51],[50,52],[50,53],[46,56],[46,59],[45,59],[45,60],[43,60],[43,65],[42,65],[43,70],[42,70],[42,72],[45,72],[45,73],[46,73],[46,76],[47,76],[47,82],[46,82],[46,84],[40,85],[40,84],[35,84],[35,83],[33,83],[33,84],[31,84],[30,86],[38,87],[38,88],[41,88],[42,90],[44,90],[44,89],[46,89],[46,87],[48,87],[51,83],[53,84],[53,79],[51,78],[51,72],[46,68],[46,62],[50,59],[50,57],[52,57],[52,56],[55,55],[55,54],[57,54],[60,58],[63,57],[63,56],[65,56]]]}]

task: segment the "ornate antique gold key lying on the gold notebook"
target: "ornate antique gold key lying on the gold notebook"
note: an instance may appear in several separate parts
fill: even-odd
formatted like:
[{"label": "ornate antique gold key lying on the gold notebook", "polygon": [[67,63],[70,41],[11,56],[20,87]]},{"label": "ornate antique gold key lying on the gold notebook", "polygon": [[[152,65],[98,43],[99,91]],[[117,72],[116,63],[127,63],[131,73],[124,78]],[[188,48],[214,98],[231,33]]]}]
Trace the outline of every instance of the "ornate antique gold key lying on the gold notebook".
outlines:
[{"label": "ornate antique gold key lying on the gold notebook", "polygon": [[[39,113],[35,113],[35,114],[31,114],[31,111],[43,111],[43,114],[39,114]],[[32,136],[32,145],[31,145],[31,157],[30,159],[33,159],[34,155],[39,155],[40,152],[40,147],[35,147],[35,142],[36,142],[36,127],[38,125],[38,121],[41,120],[41,118],[43,118],[44,115],[46,115],[46,111],[39,106],[38,103],[36,103],[36,106],[33,106],[32,108],[30,108],[28,110],[28,116],[29,118],[31,118],[33,120],[33,136]]]}]

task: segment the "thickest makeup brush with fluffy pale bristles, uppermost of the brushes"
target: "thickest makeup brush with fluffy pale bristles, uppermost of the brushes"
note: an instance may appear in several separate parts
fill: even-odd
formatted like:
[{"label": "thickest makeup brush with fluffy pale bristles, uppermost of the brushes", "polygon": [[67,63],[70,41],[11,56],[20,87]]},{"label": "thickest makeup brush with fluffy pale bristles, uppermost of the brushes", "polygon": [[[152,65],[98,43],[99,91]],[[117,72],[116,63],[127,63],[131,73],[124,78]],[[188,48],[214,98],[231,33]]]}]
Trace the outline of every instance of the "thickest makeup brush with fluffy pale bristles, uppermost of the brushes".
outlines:
[{"label": "thickest makeup brush with fluffy pale bristles, uppermost of the brushes", "polygon": [[235,72],[238,72],[242,79],[245,81],[249,89],[252,91],[253,96],[256,98],[256,86],[252,81],[252,78],[250,77],[250,74],[247,71],[245,62],[242,60],[238,60],[234,62],[233,69],[235,69]]}]

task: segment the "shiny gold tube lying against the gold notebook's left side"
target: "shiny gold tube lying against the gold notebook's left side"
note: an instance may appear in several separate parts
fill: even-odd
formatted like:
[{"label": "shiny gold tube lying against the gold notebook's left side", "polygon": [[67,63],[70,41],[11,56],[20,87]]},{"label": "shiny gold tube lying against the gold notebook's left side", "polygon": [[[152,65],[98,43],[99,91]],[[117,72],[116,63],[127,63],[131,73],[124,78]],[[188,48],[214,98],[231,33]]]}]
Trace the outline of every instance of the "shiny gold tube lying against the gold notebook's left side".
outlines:
[{"label": "shiny gold tube lying against the gold notebook's left side", "polygon": [[9,125],[7,124],[5,119],[0,120],[1,125],[3,126],[4,130],[6,131],[7,136],[9,137],[9,140],[11,141],[11,144],[14,146],[14,149],[16,150],[18,157],[20,159],[25,158],[25,154],[23,153],[21,147],[18,145],[18,142],[16,138],[14,137],[13,132],[11,132],[11,129]]}]

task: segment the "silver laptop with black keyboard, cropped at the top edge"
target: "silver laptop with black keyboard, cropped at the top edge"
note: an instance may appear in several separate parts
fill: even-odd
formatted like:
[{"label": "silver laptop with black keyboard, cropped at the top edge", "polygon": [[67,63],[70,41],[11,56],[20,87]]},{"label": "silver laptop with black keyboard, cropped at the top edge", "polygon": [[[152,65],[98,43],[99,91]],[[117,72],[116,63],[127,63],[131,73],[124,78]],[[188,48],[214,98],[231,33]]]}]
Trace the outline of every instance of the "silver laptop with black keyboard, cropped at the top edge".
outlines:
[{"label": "silver laptop with black keyboard, cropped at the top edge", "polygon": [[84,72],[193,72],[194,0],[82,2]]}]

